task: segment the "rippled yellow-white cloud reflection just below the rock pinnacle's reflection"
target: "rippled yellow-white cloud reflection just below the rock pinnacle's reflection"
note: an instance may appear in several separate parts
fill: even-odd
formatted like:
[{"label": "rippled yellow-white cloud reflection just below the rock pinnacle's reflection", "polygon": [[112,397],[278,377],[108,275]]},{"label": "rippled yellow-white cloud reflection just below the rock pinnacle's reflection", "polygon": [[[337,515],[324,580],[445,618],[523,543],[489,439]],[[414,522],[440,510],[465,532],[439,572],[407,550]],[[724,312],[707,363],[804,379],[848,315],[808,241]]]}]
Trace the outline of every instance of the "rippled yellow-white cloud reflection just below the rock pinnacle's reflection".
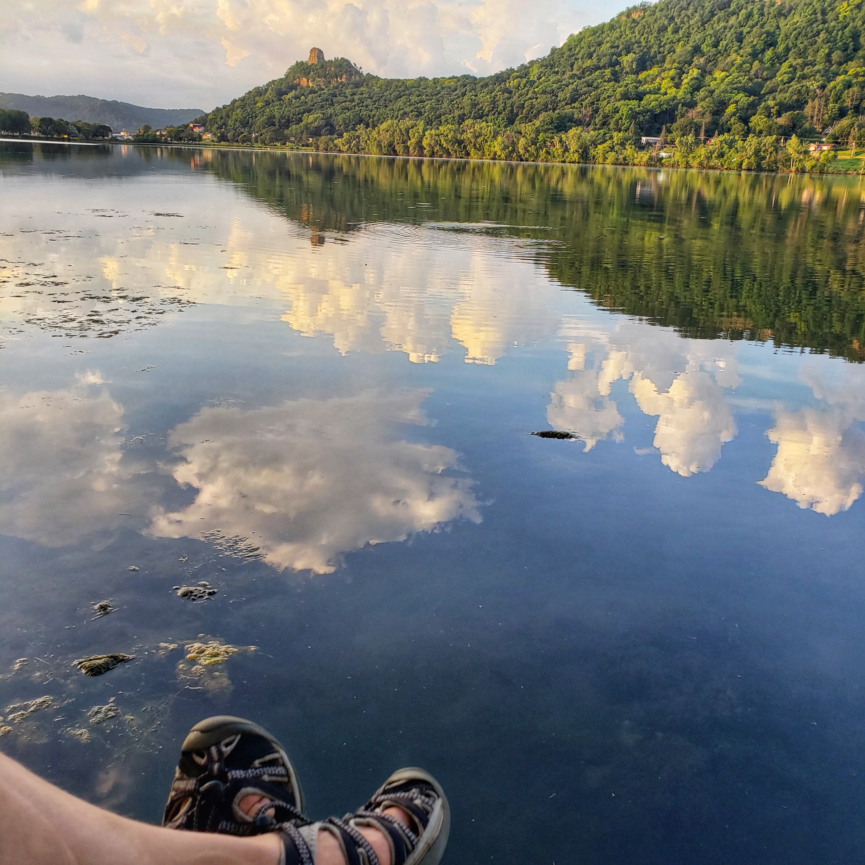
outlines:
[{"label": "rippled yellow-white cloud reflection just below the rock pinnacle's reflection", "polygon": [[383,342],[413,363],[436,362],[455,340],[466,363],[488,366],[554,330],[550,298],[539,290],[549,280],[531,262],[503,255],[509,241],[424,228],[395,244],[390,235],[403,230],[370,227],[350,247],[272,256],[263,279],[289,301],[282,320],[304,336],[332,334],[343,354]]}]

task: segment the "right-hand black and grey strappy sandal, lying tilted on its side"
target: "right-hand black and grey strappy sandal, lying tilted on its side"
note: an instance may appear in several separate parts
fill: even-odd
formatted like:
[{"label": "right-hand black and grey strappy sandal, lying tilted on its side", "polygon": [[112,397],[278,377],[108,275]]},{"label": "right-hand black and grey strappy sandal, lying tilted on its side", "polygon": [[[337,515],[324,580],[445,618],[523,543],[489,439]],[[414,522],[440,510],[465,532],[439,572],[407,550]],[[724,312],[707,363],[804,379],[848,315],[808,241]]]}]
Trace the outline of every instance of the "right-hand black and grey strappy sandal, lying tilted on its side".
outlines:
[{"label": "right-hand black and grey strappy sandal, lying tilted on its side", "polygon": [[[407,827],[383,813],[400,808],[412,820]],[[279,865],[315,865],[319,830],[339,843],[348,865],[380,865],[375,850],[358,827],[377,829],[388,839],[391,865],[439,865],[451,830],[451,808],[439,782],[423,769],[400,769],[354,814],[321,823],[281,823]]]}]

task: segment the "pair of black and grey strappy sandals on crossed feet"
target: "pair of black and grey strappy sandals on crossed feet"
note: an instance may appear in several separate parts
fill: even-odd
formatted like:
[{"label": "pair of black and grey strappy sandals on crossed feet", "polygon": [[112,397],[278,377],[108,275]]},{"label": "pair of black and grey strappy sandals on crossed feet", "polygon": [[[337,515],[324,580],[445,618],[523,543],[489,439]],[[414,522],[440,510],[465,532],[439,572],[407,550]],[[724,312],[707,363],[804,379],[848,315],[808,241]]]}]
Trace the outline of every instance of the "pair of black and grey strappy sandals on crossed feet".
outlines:
[{"label": "pair of black and grey strappy sandals on crossed feet", "polygon": [[[266,801],[246,814],[240,802],[247,796]],[[388,808],[399,808],[412,825],[385,814]],[[279,741],[253,721],[216,715],[195,724],[183,740],[163,826],[237,836],[276,832],[279,865],[315,865],[318,832],[324,830],[336,838],[348,865],[381,865],[359,831],[372,828],[388,840],[391,865],[439,865],[451,811],[439,782],[408,768],[394,772],[353,814],[311,823],[297,772]]]}]

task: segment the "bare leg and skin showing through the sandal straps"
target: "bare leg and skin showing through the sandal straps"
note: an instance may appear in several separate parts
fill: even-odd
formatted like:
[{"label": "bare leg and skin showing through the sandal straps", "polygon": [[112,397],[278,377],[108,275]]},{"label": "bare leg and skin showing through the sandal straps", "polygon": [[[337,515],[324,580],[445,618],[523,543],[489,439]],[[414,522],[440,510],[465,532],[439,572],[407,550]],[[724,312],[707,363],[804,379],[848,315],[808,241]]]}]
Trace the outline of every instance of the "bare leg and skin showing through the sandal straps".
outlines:
[{"label": "bare leg and skin showing through the sandal straps", "polygon": [[[251,811],[259,799],[244,807]],[[409,825],[400,809],[388,809]],[[390,849],[381,832],[362,829],[381,865]],[[277,865],[271,834],[237,838],[138,823],[75,798],[0,753],[0,865]],[[319,832],[316,865],[346,865],[336,840]]]}]

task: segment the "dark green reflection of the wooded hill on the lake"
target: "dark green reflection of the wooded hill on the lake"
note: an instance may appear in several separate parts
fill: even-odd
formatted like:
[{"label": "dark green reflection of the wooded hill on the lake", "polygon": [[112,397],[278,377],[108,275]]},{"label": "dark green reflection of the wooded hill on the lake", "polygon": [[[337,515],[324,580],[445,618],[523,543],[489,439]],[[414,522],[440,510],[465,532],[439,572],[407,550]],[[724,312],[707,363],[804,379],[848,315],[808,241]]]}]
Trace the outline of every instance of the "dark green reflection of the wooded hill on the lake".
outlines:
[{"label": "dark green reflection of the wooded hill on the lake", "polygon": [[865,359],[862,205],[849,178],[243,151],[203,151],[202,167],[318,231],[488,223],[478,229],[554,241],[531,255],[612,311],[686,336]]}]

